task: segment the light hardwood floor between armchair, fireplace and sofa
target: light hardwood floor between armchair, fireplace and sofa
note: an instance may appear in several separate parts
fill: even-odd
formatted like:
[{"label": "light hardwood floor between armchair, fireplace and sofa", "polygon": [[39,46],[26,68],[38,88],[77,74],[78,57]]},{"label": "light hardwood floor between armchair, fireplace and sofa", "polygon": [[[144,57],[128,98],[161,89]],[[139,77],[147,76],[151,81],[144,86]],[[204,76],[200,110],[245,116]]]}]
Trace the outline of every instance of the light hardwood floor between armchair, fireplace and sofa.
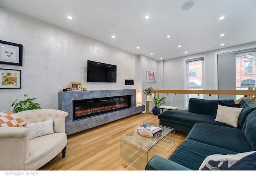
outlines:
[{"label": "light hardwood floor between armchair, fireplace and sofa", "polygon": [[[136,130],[143,122],[159,124],[158,116],[135,114],[71,134],[66,145],[66,157],[62,158],[60,153],[39,170],[137,170],[120,158],[120,138]],[[159,142],[158,150],[152,150],[151,155],[168,158],[186,136],[187,133],[176,130],[175,144],[166,148]]]}]

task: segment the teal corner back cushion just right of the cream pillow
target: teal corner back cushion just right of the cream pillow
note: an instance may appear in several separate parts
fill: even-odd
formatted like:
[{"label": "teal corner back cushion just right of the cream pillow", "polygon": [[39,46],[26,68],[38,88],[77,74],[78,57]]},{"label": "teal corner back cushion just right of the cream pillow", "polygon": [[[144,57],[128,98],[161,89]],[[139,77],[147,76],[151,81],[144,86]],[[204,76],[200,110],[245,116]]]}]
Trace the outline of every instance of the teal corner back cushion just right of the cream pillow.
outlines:
[{"label": "teal corner back cushion just right of the cream pillow", "polygon": [[256,110],[256,103],[252,102],[252,100],[241,100],[239,102],[241,104],[240,108],[243,108],[241,111],[239,118],[238,118],[238,124],[243,127],[244,122],[247,118],[247,116],[253,111]]}]

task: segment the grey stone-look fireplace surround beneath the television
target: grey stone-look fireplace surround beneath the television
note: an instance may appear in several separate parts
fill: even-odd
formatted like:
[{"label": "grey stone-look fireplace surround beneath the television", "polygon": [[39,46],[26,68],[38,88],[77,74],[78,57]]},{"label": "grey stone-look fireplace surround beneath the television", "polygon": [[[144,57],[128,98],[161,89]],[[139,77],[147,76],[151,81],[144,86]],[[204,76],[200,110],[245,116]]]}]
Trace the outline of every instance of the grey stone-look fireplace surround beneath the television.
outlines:
[{"label": "grey stone-look fireplace surround beneath the television", "polygon": [[[76,92],[58,92],[59,110],[68,112],[65,121],[65,131],[67,135],[74,134],[95,126],[106,124],[133,114],[143,112],[145,105],[136,106],[136,90],[94,90],[94,91],[76,91]],[[92,98],[104,98],[112,96],[132,95],[132,107],[114,112],[108,112],[92,116],[89,118],[73,121],[73,100],[85,100]]]}]

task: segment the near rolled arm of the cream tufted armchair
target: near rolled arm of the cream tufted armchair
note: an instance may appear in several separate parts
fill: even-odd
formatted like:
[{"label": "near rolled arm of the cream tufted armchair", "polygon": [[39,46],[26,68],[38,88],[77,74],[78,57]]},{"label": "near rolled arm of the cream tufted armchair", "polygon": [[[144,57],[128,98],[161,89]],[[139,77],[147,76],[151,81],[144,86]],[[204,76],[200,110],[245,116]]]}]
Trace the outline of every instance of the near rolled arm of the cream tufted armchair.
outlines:
[{"label": "near rolled arm of the cream tufted armchair", "polygon": [[24,170],[29,157],[28,128],[0,127],[1,170]]}]

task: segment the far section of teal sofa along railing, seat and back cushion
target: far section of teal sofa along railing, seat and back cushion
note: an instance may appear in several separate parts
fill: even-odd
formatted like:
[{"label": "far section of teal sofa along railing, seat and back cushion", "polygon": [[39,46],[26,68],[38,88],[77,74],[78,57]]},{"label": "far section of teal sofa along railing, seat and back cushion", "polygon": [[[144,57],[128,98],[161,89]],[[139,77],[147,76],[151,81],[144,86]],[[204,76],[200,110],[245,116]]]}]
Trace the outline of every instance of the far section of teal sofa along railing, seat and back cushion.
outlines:
[{"label": "far section of teal sofa along railing, seat and back cushion", "polygon": [[[175,130],[183,132],[190,132],[196,123],[232,127],[230,125],[216,122],[214,120],[216,118],[219,101],[220,100],[190,98],[188,101],[188,110],[167,110],[158,115],[159,124],[163,126],[169,126]],[[234,100],[221,100],[221,102],[227,104],[235,103]],[[241,127],[238,126],[238,128]]]}]

